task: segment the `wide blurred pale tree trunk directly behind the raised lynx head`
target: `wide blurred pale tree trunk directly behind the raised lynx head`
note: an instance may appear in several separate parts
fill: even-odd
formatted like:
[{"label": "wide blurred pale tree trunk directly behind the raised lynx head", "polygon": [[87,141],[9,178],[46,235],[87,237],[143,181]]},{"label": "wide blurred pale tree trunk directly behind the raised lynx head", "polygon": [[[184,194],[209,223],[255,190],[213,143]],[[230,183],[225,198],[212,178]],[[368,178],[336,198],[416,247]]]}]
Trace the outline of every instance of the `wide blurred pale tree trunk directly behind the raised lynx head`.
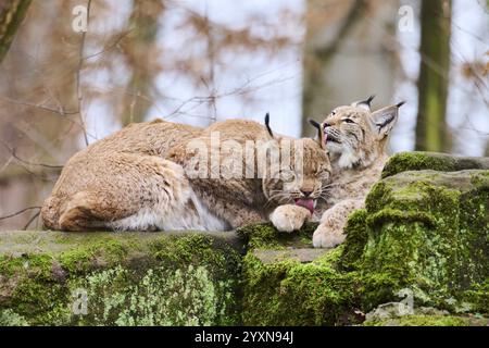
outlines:
[{"label": "wide blurred pale tree trunk directly behind the raised lynx head", "polygon": [[[391,101],[398,1],[308,0],[303,54],[302,135],[315,132],[308,117],[323,121],[334,108],[377,95]],[[387,41],[387,42],[386,42]]]}]

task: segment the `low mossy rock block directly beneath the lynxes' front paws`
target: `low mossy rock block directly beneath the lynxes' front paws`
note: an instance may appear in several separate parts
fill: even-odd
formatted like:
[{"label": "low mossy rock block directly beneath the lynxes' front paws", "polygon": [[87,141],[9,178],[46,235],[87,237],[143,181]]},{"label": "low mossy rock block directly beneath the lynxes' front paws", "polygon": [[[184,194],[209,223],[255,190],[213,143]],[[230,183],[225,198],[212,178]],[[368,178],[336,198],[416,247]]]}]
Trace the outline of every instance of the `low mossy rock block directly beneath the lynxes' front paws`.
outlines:
[{"label": "low mossy rock block directly beneath the lynxes' front paws", "polygon": [[[342,247],[313,249],[315,224],[279,233],[262,224],[240,228],[249,251],[242,261],[244,325],[337,325],[355,322],[358,272],[340,272]],[[299,248],[297,252],[291,247]]]}]

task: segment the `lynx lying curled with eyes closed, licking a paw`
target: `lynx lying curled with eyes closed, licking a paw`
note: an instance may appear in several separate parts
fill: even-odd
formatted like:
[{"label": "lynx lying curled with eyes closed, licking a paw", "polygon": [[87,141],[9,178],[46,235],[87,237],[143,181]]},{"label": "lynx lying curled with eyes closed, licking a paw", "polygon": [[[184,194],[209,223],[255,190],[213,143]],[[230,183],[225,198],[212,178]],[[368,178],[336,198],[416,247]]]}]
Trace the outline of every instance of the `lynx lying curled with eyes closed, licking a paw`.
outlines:
[{"label": "lynx lying curled with eyes closed, licking a paw", "polygon": [[[199,170],[210,176],[188,175],[196,158],[215,157],[214,134],[220,136],[218,169],[225,172],[238,163],[249,169],[236,147],[250,144],[253,169],[263,148],[278,150],[280,156],[290,152],[292,161],[287,166],[265,166],[263,176],[230,178],[213,177],[216,166],[203,161]],[[224,149],[226,140],[235,147]],[[289,140],[290,149],[284,148],[284,140]],[[302,165],[296,165],[296,159],[302,159]],[[46,227],[64,231],[225,231],[265,221],[286,202],[298,204],[296,213],[301,216],[310,214],[329,175],[324,142],[276,136],[268,122],[265,127],[230,120],[206,129],[164,121],[142,123],[76,153],[63,169],[41,216]]]}]

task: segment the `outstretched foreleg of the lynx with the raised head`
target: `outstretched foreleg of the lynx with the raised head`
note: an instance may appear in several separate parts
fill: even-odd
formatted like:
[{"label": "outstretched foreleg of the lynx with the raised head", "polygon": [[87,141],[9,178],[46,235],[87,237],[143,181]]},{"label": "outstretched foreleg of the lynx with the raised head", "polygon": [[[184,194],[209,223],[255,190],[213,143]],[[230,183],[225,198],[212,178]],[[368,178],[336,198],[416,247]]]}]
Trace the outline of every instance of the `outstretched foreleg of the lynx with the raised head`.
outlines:
[{"label": "outstretched foreleg of the lynx with the raised head", "polygon": [[363,206],[363,199],[346,199],[326,210],[321,217],[319,226],[314,231],[314,247],[334,248],[343,243],[346,237],[343,227],[347,224],[348,216]]}]

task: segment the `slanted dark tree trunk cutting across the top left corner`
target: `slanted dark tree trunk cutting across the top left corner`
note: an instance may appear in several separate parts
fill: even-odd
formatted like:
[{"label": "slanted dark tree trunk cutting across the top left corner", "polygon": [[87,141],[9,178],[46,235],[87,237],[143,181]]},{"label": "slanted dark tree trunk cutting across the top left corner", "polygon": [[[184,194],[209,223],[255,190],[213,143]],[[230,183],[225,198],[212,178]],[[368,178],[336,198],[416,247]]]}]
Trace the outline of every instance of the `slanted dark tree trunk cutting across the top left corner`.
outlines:
[{"label": "slanted dark tree trunk cutting across the top left corner", "polygon": [[30,0],[5,0],[0,3],[0,63],[29,8]]}]

